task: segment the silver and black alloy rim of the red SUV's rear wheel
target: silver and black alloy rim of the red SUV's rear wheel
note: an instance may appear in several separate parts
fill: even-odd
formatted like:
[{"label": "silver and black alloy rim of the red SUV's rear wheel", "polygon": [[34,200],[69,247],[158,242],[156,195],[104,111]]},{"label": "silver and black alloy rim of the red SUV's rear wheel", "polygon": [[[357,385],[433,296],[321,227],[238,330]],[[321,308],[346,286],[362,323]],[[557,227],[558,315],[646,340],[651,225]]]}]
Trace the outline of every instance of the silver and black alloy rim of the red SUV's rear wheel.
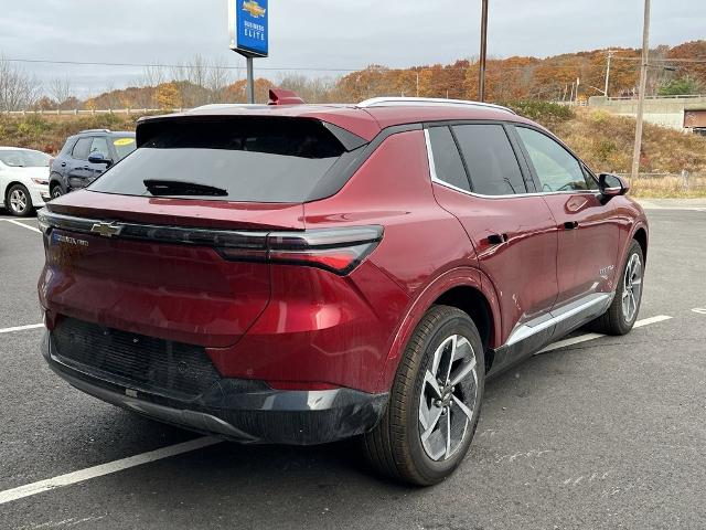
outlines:
[{"label": "silver and black alloy rim of the red SUV's rear wheel", "polygon": [[437,348],[419,396],[419,434],[427,456],[447,460],[463,444],[478,398],[473,347],[453,335]]}]

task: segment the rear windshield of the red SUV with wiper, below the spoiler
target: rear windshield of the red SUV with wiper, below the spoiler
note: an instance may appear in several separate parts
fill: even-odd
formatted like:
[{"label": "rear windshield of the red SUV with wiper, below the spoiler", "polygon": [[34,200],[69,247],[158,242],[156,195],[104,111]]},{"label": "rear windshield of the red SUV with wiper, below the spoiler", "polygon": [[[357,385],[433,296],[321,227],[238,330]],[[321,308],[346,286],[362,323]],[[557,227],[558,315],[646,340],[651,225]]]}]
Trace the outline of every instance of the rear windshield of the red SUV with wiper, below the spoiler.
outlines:
[{"label": "rear windshield of the red SUV with wiper, below the spoiler", "polygon": [[139,148],[89,189],[238,202],[303,202],[345,153],[304,118],[164,120],[140,125]]}]

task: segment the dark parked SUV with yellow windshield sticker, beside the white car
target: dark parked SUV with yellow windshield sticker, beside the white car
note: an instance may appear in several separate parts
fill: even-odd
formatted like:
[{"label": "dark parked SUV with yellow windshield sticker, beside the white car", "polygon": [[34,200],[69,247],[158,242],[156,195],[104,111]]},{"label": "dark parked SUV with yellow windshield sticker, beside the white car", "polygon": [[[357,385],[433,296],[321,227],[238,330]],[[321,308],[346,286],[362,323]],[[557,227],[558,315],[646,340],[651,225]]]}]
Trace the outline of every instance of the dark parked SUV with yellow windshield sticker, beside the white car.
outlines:
[{"label": "dark parked SUV with yellow windshield sticker, beside the white car", "polygon": [[85,188],[135,150],[135,132],[87,129],[69,136],[52,162],[52,198]]}]

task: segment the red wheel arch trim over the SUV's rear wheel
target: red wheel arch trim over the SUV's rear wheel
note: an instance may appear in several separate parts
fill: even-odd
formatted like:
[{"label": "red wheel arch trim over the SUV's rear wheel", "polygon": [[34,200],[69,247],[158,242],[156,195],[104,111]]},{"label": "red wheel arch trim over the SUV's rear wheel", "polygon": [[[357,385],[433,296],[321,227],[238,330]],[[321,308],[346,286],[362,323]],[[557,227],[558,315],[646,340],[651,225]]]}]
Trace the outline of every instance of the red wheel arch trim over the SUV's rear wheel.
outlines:
[{"label": "red wheel arch trim over the SUV's rear wheel", "polygon": [[434,305],[457,307],[473,319],[485,349],[485,368],[490,368],[493,361],[492,347],[501,333],[501,314],[495,293],[483,277],[475,268],[461,267],[440,275],[420,289],[421,293],[411,303],[393,338],[378,383],[381,392],[389,390],[409,337]]}]

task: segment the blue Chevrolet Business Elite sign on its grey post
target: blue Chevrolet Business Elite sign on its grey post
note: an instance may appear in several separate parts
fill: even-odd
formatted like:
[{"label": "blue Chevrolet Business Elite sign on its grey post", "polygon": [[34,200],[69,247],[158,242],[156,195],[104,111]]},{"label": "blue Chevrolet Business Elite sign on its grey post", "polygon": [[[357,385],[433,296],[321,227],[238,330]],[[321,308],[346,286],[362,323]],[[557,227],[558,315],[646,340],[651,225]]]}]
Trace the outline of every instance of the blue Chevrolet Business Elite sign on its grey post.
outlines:
[{"label": "blue Chevrolet Business Elite sign on its grey post", "polygon": [[245,56],[247,65],[247,103],[255,103],[253,59],[269,52],[267,0],[228,0],[229,47]]}]

